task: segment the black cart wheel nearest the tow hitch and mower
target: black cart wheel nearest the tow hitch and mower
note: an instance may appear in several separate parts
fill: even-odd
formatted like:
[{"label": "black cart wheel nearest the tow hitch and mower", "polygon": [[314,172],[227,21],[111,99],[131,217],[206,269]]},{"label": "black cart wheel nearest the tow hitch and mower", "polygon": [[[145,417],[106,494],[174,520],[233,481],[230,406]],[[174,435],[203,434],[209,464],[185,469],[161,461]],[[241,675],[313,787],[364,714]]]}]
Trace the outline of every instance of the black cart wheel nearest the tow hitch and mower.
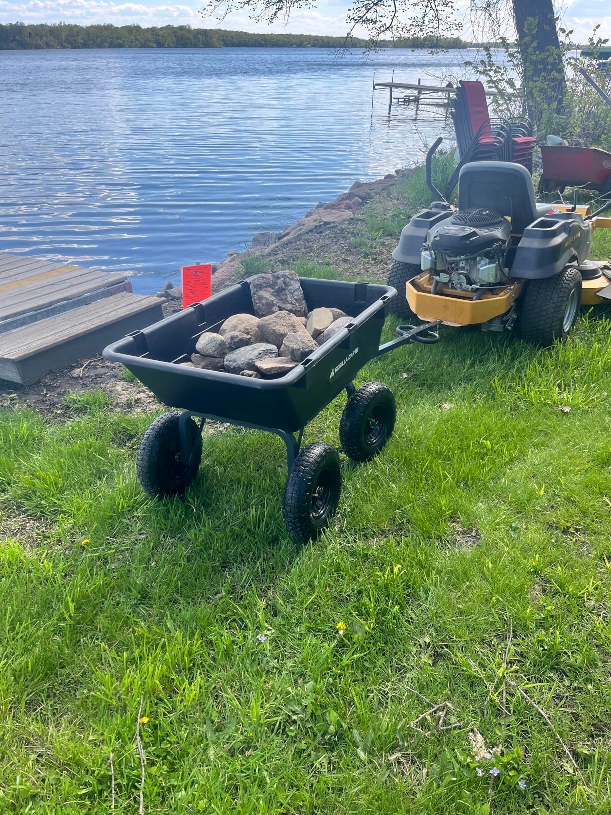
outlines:
[{"label": "black cart wheel nearest the tow hitch and mower", "polygon": [[383,382],[367,382],[354,391],[341,416],[341,447],[353,461],[368,461],[393,434],[397,403]]}]

